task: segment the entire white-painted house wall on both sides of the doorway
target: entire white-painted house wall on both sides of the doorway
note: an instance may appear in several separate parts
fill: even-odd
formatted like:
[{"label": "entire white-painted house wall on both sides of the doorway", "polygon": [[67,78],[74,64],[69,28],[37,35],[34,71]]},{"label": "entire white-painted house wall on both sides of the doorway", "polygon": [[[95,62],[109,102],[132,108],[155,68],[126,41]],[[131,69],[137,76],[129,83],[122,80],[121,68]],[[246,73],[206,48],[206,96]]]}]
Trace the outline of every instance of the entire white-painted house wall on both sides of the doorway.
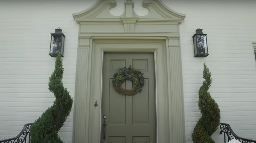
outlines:
[{"label": "entire white-painted house wall on both sides of the doorway", "polygon": [[[72,97],[78,24],[72,13],[89,8],[95,1],[7,1],[0,2],[0,140],[17,135],[25,123],[33,122],[52,105],[48,77],[54,58],[48,55],[50,33],[57,27],[65,34],[63,84]],[[198,89],[202,85],[203,62],[212,73],[210,93],[219,104],[221,122],[229,123],[237,135],[256,139],[256,67],[252,42],[256,42],[256,2],[253,0],[168,1],[173,10],[186,14],[180,25],[184,88],[186,143],[200,112]],[[147,13],[135,1],[139,15]],[[57,9],[55,9],[57,8]],[[117,0],[115,15],[123,12]],[[119,13],[119,14],[117,14]],[[195,58],[192,36],[200,27],[207,33],[209,56]],[[59,135],[72,142],[73,111]],[[223,135],[213,135],[216,143]]]}]

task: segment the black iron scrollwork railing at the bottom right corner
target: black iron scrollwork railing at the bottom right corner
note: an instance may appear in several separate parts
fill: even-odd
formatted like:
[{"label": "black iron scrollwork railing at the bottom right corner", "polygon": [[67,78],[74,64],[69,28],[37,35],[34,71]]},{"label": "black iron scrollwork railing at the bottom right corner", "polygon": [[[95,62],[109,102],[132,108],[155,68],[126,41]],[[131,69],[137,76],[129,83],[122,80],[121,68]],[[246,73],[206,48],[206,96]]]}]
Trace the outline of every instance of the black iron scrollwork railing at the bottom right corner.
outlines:
[{"label": "black iron scrollwork railing at the bottom right corner", "polygon": [[240,137],[234,133],[234,131],[231,129],[229,124],[226,123],[220,123],[221,127],[221,134],[224,133],[224,143],[226,143],[226,136],[227,140],[230,141],[233,138],[240,141],[241,143],[256,143],[256,140],[251,140],[247,138]]}]

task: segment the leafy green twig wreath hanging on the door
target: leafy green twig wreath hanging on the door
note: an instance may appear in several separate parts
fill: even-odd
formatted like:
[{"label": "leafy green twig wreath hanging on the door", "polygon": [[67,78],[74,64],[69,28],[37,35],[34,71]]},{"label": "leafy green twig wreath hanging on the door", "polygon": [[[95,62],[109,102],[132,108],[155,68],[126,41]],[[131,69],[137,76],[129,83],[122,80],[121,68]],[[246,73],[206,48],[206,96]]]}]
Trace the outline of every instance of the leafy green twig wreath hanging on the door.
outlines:
[{"label": "leafy green twig wreath hanging on the door", "polygon": [[[132,89],[121,88],[121,84],[126,80],[133,82],[134,87]],[[119,68],[118,71],[114,74],[112,83],[118,93],[123,95],[135,95],[136,93],[142,91],[144,81],[143,73],[135,70],[130,65],[129,68]]]}]

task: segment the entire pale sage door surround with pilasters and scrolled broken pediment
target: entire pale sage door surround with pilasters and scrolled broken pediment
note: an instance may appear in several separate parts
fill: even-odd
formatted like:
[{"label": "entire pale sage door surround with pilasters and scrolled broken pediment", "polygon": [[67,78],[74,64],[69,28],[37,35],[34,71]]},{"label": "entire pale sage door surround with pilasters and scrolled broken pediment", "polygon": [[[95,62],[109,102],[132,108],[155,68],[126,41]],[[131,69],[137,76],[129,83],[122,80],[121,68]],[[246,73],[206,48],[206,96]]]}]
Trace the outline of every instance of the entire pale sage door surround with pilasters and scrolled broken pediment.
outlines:
[{"label": "entire pale sage door surround with pilasters and scrolled broken pediment", "polygon": [[[74,99],[74,143],[98,143],[100,139],[103,52],[155,53],[158,143],[185,142],[181,47],[179,24],[185,18],[160,0],[143,0],[149,14],[139,16],[127,0],[125,12],[113,16],[116,0],[98,0],[73,14],[79,24]],[[100,43],[140,43],[146,48],[97,47]],[[154,44],[161,45],[156,48]],[[153,46],[153,47],[151,47]]]}]

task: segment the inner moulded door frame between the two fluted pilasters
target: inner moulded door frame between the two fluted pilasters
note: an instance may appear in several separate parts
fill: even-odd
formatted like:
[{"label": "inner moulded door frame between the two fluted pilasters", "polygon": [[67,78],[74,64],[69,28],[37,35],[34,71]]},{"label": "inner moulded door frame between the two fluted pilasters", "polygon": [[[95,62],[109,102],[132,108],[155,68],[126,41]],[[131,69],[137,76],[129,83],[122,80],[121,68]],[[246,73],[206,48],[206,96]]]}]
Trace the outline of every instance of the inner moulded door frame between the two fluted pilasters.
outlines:
[{"label": "inner moulded door frame between the two fluted pilasters", "polygon": [[[92,67],[91,67],[91,102],[97,101],[98,110],[90,110],[90,126],[92,137],[89,142],[100,142],[101,137],[101,108],[102,108],[102,70],[103,70],[103,55],[104,52],[154,52],[155,60],[155,86],[156,86],[156,139],[158,143],[163,143],[169,140],[169,110],[168,108],[168,80],[164,78],[167,76],[167,60],[166,60],[166,44],[165,40],[93,40]],[[104,44],[112,44],[113,46],[104,46]],[[115,43],[123,44],[123,47],[115,47]],[[148,44],[147,48],[129,48],[125,44]],[[100,45],[101,44],[101,45]],[[103,45],[102,45],[103,44]],[[100,45],[100,46],[98,46]],[[99,58],[100,57],[100,58]],[[99,71],[99,72],[94,72]],[[96,85],[100,85],[99,87]],[[101,89],[101,90],[98,90]],[[162,96],[165,95],[165,96]],[[160,118],[161,117],[161,118]]]}]

